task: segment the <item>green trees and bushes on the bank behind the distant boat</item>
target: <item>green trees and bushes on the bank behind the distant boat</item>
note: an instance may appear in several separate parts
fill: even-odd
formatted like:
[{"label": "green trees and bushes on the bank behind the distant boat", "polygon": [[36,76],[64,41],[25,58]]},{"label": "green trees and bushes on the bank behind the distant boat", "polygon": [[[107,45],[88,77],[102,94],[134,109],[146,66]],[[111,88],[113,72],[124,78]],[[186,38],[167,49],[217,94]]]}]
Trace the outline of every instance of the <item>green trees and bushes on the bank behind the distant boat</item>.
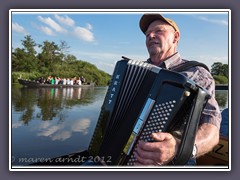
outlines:
[{"label": "green trees and bushes on the bank behind the distant boat", "polygon": [[[107,85],[111,76],[95,65],[86,61],[78,60],[75,56],[68,54],[70,48],[65,41],[60,45],[55,42],[44,41],[36,44],[30,35],[24,37],[23,48],[12,50],[12,82],[17,78],[37,79],[57,76],[61,78],[72,78],[84,76],[87,82],[96,85]],[[37,53],[35,47],[40,48]]]}]

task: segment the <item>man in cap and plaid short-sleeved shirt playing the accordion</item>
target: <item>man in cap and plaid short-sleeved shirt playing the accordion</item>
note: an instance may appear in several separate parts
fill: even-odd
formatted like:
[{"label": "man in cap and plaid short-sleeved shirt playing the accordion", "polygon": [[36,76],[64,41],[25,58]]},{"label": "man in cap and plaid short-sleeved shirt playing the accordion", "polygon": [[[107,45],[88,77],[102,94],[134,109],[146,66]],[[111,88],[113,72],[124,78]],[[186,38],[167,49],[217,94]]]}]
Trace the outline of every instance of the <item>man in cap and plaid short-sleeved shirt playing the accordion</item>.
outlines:
[{"label": "man in cap and plaid short-sleeved shirt playing the accordion", "polygon": [[[166,69],[185,62],[177,52],[180,30],[177,24],[160,14],[144,14],[140,28],[146,35],[146,46],[150,55],[149,63]],[[192,158],[195,159],[217,145],[221,114],[215,100],[215,82],[211,74],[203,67],[192,67],[184,75],[206,88],[212,97],[203,110],[196,134]],[[155,142],[140,142],[135,153],[136,165],[166,165],[175,157],[179,142],[170,133],[153,133]],[[193,163],[194,164],[194,163]]]}]

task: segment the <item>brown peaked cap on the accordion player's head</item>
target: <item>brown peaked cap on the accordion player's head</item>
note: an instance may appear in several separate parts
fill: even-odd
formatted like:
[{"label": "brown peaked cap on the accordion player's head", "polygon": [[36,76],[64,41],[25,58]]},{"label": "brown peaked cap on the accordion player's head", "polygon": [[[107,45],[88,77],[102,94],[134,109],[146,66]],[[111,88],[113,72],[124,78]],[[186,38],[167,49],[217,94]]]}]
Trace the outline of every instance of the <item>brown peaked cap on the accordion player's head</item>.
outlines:
[{"label": "brown peaked cap on the accordion player's head", "polygon": [[156,20],[164,21],[164,22],[168,23],[170,26],[172,26],[175,29],[175,31],[180,32],[177,24],[173,20],[171,20],[169,18],[165,18],[161,14],[144,14],[141,17],[140,22],[139,22],[139,26],[140,26],[140,29],[142,30],[142,32],[145,34],[145,32],[148,29],[148,26],[153,21],[156,21]]}]

